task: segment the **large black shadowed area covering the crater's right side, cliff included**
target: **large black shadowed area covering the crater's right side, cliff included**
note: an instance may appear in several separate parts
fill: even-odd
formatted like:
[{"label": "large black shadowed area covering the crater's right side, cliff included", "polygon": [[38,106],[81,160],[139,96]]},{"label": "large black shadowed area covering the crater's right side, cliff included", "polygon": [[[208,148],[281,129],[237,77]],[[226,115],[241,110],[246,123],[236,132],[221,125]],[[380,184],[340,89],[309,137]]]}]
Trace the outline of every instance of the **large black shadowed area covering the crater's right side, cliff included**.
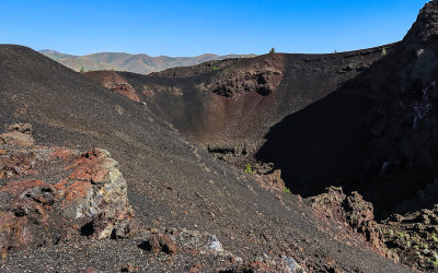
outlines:
[{"label": "large black shadowed area covering the crater's right side, cliff included", "polygon": [[257,157],[304,195],[328,185],[359,190],[379,216],[436,203],[422,190],[437,177],[437,7],[366,72],[273,127]]}]

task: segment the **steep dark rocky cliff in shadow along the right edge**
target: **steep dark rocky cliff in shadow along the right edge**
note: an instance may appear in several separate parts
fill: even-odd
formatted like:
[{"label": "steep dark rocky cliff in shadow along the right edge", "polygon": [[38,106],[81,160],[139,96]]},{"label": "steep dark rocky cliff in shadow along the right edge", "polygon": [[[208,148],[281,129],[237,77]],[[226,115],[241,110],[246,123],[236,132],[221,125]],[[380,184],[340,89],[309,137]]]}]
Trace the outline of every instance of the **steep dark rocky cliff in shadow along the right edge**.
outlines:
[{"label": "steep dark rocky cliff in shadow along the right edge", "polygon": [[[372,75],[380,83],[373,87],[376,106],[367,117],[371,141],[364,173],[374,181],[373,188],[385,189],[388,200],[382,199],[380,206],[393,203],[384,207],[392,213],[419,210],[436,201],[427,189],[438,178],[437,41],[438,1],[430,1]],[[379,79],[383,70],[392,72]]]}]

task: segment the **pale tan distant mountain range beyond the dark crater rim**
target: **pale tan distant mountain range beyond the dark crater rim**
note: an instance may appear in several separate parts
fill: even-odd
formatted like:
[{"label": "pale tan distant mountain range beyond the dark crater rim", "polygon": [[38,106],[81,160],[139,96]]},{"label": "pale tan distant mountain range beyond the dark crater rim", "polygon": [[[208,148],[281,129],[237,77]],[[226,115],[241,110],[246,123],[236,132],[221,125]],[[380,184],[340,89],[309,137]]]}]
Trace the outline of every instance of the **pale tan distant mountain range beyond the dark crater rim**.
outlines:
[{"label": "pale tan distant mountain range beyond the dark crater rim", "polygon": [[39,52],[76,71],[81,71],[82,69],[84,71],[116,70],[140,74],[149,74],[151,72],[158,72],[175,67],[195,66],[205,61],[255,57],[255,55],[218,56],[212,54],[205,54],[196,57],[150,57],[146,54],[130,55],[122,52],[101,52],[74,56],[50,49],[39,50]]}]

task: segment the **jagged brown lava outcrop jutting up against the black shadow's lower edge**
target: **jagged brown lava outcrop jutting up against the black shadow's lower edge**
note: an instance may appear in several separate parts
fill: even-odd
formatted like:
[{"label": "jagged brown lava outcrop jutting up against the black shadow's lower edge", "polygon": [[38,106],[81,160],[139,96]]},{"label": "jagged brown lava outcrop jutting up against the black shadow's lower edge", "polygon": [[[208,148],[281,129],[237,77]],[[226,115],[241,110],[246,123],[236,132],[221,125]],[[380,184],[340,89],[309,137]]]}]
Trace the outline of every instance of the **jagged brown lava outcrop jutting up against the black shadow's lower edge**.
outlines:
[{"label": "jagged brown lava outcrop jutting up against the black shadow's lower edge", "polygon": [[321,218],[347,223],[354,230],[362,234],[373,249],[392,257],[384,247],[379,225],[373,221],[372,204],[365,201],[359,193],[354,191],[346,195],[342,188],[330,187],[326,189],[326,193],[309,200]]}]

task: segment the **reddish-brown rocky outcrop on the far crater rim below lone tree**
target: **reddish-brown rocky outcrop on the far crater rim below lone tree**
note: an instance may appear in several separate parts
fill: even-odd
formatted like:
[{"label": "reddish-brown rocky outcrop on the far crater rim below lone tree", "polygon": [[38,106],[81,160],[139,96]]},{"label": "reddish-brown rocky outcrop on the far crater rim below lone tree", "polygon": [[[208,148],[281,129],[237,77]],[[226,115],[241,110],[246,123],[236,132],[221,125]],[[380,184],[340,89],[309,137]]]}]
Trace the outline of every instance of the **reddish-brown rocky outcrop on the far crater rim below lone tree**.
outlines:
[{"label": "reddish-brown rocky outcrop on the far crater rim below lone tree", "polygon": [[224,97],[237,97],[249,92],[267,96],[280,84],[284,63],[284,56],[268,55],[262,63],[254,62],[245,67],[235,66],[233,69],[226,69],[210,83],[203,83],[198,87]]}]

